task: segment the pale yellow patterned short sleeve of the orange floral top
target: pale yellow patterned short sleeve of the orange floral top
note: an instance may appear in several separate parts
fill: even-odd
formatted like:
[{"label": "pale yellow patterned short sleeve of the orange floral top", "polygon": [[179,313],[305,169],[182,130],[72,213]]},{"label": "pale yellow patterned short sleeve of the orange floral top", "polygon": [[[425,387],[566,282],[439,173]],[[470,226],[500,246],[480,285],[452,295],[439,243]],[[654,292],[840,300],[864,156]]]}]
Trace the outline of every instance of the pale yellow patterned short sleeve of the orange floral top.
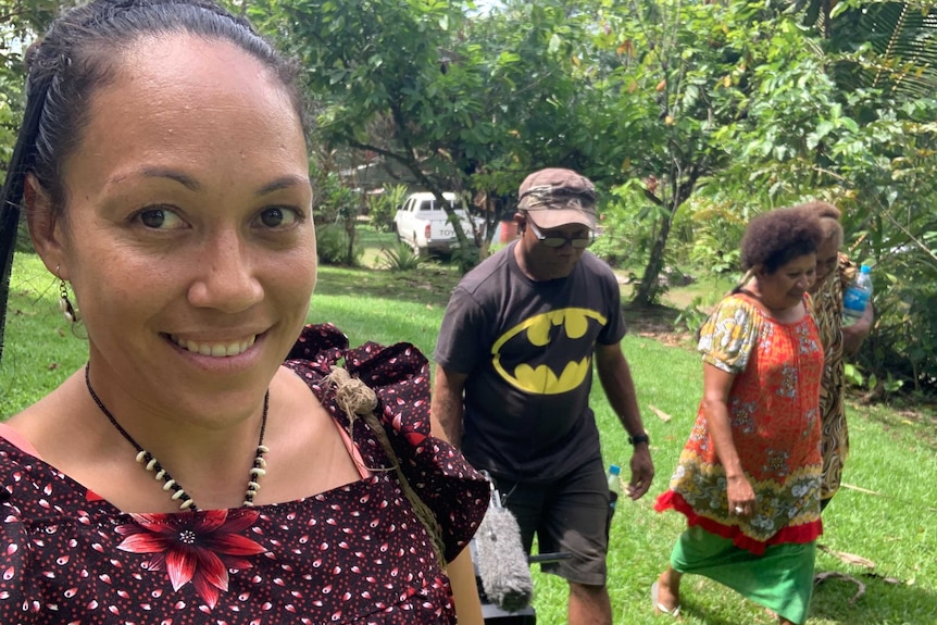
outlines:
[{"label": "pale yellow patterned short sleeve of the orange floral top", "polygon": [[729,296],[700,328],[697,349],[703,362],[726,373],[745,371],[758,337],[761,316],[754,307],[740,296]]}]

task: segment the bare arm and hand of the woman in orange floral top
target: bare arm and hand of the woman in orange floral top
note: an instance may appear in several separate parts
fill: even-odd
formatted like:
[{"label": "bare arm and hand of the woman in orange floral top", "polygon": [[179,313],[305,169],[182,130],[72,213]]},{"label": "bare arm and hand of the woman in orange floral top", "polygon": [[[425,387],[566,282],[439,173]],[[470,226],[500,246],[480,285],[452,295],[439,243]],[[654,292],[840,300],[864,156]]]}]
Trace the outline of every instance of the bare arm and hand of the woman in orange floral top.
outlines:
[{"label": "bare arm and hand of the woman in orange floral top", "polygon": [[741,508],[741,515],[750,515],[757,510],[754,490],[738,459],[728,415],[728,393],[734,379],[735,374],[703,364],[702,408],[716,455],[725,468],[728,510],[732,513]]}]

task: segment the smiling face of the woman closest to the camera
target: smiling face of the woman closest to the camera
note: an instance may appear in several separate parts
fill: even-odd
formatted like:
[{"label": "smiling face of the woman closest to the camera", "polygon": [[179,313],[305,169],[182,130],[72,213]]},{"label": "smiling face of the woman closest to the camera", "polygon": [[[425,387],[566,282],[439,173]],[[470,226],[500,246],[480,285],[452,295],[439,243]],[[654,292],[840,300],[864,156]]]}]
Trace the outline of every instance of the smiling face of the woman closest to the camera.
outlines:
[{"label": "smiling face of the woman closest to the camera", "polygon": [[39,247],[72,282],[96,387],[205,418],[255,410],[315,285],[288,92],[230,43],[177,35],[127,52],[89,112]]}]

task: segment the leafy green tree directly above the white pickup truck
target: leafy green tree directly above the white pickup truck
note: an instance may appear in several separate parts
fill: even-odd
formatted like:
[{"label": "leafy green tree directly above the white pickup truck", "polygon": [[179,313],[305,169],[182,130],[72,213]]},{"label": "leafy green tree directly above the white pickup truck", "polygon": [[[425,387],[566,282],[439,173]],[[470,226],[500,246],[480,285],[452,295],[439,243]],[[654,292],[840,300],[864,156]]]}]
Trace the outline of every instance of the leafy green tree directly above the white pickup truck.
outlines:
[{"label": "leafy green tree directly above the white pickup truck", "polygon": [[601,168],[600,137],[584,124],[598,96],[577,70],[594,18],[572,4],[509,2],[471,17],[459,3],[417,0],[248,11],[267,24],[287,15],[279,36],[308,67],[322,140],[395,160],[437,195],[462,192],[482,204],[490,238],[532,170]]}]

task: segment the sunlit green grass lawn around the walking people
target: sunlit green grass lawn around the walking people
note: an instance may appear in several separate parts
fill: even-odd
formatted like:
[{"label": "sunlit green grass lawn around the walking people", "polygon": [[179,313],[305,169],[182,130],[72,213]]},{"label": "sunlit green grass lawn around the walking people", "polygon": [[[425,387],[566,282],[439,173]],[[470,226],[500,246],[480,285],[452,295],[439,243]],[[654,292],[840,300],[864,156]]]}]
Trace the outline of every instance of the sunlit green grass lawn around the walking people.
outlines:
[{"label": "sunlit green grass lawn around the walking people", "polygon": [[[334,322],[353,345],[364,340],[409,340],[432,354],[449,292],[458,274],[445,266],[417,272],[322,267],[312,298],[311,322]],[[32,255],[20,254],[3,361],[0,416],[35,401],[82,365],[86,346],[62,320],[54,278]],[[635,313],[632,312],[630,315]],[[649,588],[667,563],[684,527],[676,513],[658,514],[653,498],[689,434],[701,390],[701,368],[686,343],[665,345],[626,337],[623,348],[637,385],[658,476],[642,500],[619,503],[612,523],[610,592],[615,623],[665,623],[651,611]],[[629,448],[600,389],[592,405],[607,462],[627,471]],[[658,416],[670,415],[665,421]],[[814,595],[810,625],[933,625],[937,623],[937,420],[933,414],[888,408],[850,407],[852,455],[842,489],[824,516],[821,543],[864,558],[873,566],[848,564],[822,552],[817,571],[852,575],[865,585],[830,578]],[[566,588],[535,567],[538,623],[565,623]],[[687,577],[685,624],[772,624],[759,607],[703,578]]]}]

